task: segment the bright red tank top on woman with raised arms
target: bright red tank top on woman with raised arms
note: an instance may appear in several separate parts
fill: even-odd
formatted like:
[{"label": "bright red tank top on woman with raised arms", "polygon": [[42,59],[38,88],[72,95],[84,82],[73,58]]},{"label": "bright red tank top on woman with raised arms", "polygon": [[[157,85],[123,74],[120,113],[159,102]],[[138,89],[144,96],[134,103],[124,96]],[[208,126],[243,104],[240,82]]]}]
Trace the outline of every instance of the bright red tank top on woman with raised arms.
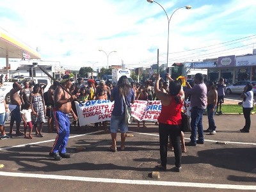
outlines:
[{"label": "bright red tank top on woman with raised arms", "polygon": [[158,117],[158,122],[168,125],[181,124],[181,109],[183,102],[177,103],[174,96],[170,96],[170,104],[164,106],[162,104],[161,113]]}]

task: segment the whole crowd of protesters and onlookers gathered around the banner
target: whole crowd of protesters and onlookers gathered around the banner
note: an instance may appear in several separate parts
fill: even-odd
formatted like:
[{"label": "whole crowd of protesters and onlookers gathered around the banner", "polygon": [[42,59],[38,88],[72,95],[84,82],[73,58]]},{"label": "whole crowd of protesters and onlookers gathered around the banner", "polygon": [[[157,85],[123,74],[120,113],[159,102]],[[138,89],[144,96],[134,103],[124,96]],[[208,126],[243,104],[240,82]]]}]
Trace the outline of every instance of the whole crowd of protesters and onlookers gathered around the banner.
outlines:
[{"label": "whole crowd of protesters and onlookers gathered around the banner", "polygon": [[[125,137],[127,136],[128,124],[125,122],[125,106],[131,107],[134,100],[161,100],[162,108],[158,118],[159,126],[159,143],[161,164],[156,168],[166,170],[167,151],[172,150],[175,154],[175,172],[181,169],[181,154],[186,152],[186,146],[196,146],[204,144],[204,132],[216,134],[216,124],[214,114],[218,108],[221,115],[221,104],[224,102],[224,85],[221,78],[216,85],[212,81],[204,82],[202,74],[195,75],[193,86],[186,82],[182,87],[179,80],[174,80],[169,74],[166,74],[168,81],[163,81],[161,77],[156,76],[154,88],[150,81],[145,84],[129,83],[126,76],[120,77],[115,87],[111,83],[106,84],[100,80],[97,84],[93,79],[86,83],[82,78],[77,79],[74,83],[72,75],[65,75],[60,82],[54,81],[47,92],[44,92],[46,84],[35,84],[33,88],[29,82],[24,83],[24,88],[15,82],[10,91],[10,104],[6,104],[3,92],[0,90],[0,131],[1,139],[10,138],[13,134],[13,125],[16,124],[16,135],[32,139],[33,127],[35,136],[44,137],[43,126],[46,123],[47,131],[58,133],[49,155],[56,160],[61,158],[70,158],[67,154],[66,146],[70,133],[70,118],[72,114],[74,127],[79,129],[77,119],[77,110],[75,100],[86,102],[88,100],[110,100],[115,101],[110,120],[110,132],[112,145],[108,148],[111,152],[116,152],[116,132],[120,129],[121,146],[120,150],[125,150]],[[245,125],[241,132],[250,131],[250,113],[253,109],[253,92],[252,84],[244,87],[241,95],[243,101],[243,113]],[[184,106],[184,100],[189,99],[191,102],[191,136],[190,141],[185,143],[184,133],[181,131],[182,117],[180,112]],[[10,133],[4,132],[4,122],[8,109],[11,111]],[[207,110],[209,127],[204,131],[202,118]],[[20,124],[23,121],[24,132],[20,131]],[[146,127],[145,122],[143,127]],[[108,122],[95,123],[95,127],[106,129]],[[39,125],[39,128],[38,128]],[[138,127],[140,122],[138,121]],[[29,131],[27,129],[29,128]],[[198,138],[196,139],[196,135]]]}]

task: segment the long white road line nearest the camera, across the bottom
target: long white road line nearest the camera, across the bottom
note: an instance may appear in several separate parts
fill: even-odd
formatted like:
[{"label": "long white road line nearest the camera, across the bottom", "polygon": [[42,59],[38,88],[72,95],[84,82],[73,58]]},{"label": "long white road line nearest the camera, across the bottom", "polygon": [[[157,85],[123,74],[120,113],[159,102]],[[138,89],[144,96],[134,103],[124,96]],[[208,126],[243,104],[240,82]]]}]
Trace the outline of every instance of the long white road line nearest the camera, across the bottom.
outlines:
[{"label": "long white road line nearest the camera, across the bottom", "polygon": [[209,183],[195,183],[195,182],[168,182],[168,181],[155,181],[155,180],[131,180],[131,179],[106,179],[95,177],[74,177],[65,175],[44,175],[32,173],[11,173],[0,172],[1,176],[7,177],[28,177],[38,179],[58,179],[58,180],[76,180],[84,182],[104,182],[115,184],[137,184],[137,185],[150,185],[150,186],[177,186],[177,187],[193,187],[193,188],[214,188],[214,189],[240,189],[240,190],[256,190],[256,186],[246,185],[231,185],[231,184],[209,184]]}]

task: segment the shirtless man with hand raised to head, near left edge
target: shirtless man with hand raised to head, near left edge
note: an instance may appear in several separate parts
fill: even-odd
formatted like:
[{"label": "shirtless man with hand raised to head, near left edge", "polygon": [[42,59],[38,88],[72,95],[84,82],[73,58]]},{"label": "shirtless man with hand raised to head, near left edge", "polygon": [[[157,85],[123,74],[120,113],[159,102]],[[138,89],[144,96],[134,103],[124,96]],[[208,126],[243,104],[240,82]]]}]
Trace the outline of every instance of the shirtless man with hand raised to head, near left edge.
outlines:
[{"label": "shirtless man with hand raised to head, near left edge", "polygon": [[13,83],[13,88],[10,90],[10,105],[9,109],[12,113],[11,120],[10,120],[10,135],[12,136],[13,132],[13,124],[16,122],[16,135],[23,135],[22,132],[20,132],[20,122],[21,122],[21,116],[20,116],[20,104],[21,99],[19,96],[19,91],[21,90],[21,86],[19,83],[15,82]]}]

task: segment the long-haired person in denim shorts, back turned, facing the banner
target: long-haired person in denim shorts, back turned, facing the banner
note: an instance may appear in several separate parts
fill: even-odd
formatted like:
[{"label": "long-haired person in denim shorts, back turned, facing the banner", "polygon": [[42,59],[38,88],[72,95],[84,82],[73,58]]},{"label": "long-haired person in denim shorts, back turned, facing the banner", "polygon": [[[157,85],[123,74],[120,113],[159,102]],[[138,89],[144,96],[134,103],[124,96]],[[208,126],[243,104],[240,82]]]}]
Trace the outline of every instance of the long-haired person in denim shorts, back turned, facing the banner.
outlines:
[{"label": "long-haired person in denim shorts, back turned, facing the banner", "polygon": [[[134,103],[134,90],[129,83],[127,76],[121,76],[115,88],[111,92],[110,101],[115,100],[115,105],[111,113],[110,132],[112,138],[112,145],[108,148],[111,152],[116,152],[116,132],[120,129],[121,132],[121,147],[120,150],[125,150],[125,134],[128,131],[128,124],[125,122],[124,105],[131,107]],[[125,100],[125,103],[124,103]]]}]

